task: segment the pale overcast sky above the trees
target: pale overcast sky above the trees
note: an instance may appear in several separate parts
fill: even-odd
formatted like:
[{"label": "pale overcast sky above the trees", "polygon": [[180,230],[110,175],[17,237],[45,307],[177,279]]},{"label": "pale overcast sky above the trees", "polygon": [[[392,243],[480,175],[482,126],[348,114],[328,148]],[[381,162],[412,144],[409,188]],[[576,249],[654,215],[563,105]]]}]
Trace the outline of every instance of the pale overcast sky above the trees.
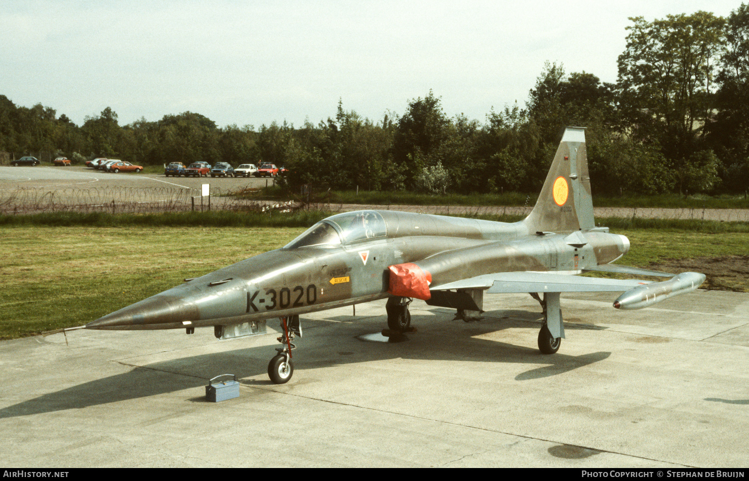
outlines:
[{"label": "pale overcast sky above the trees", "polygon": [[[431,89],[450,117],[524,107],[545,61],[616,81],[630,16],[740,1],[0,0],[0,94],[81,125],[193,111],[219,126],[381,120]],[[392,117],[392,114],[391,114]]]}]

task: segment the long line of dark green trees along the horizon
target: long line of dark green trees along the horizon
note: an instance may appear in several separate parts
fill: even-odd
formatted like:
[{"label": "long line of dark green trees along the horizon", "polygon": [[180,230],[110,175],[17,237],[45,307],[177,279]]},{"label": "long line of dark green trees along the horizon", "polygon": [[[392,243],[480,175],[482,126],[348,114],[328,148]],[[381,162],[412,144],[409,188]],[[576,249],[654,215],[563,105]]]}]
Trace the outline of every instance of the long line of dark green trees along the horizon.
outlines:
[{"label": "long line of dark green trees along the horizon", "polygon": [[111,108],[76,126],[0,96],[0,151],[49,151],[142,165],[273,162],[296,187],[537,192],[565,126],[585,126],[597,194],[745,193],[749,186],[749,5],[630,19],[616,83],[547,62],[526,105],[484,122],[448,117],[433,92],[403,114],[336,114],[303,126],[219,128],[194,112],[125,126]]}]

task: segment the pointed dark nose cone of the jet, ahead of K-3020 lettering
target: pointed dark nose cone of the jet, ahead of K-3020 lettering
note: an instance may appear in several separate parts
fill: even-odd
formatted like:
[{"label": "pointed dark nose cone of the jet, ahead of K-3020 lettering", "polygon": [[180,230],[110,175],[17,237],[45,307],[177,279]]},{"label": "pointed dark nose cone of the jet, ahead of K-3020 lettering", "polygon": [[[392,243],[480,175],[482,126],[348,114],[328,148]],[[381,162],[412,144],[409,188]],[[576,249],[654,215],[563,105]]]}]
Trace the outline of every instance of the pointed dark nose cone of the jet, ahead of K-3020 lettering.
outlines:
[{"label": "pointed dark nose cone of the jet, ahead of K-3020 lettering", "polygon": [[186,300],[165,295],[123,307],[86,325],[88,329],[180,327],[183,321],[198,319],[198,308]]}]

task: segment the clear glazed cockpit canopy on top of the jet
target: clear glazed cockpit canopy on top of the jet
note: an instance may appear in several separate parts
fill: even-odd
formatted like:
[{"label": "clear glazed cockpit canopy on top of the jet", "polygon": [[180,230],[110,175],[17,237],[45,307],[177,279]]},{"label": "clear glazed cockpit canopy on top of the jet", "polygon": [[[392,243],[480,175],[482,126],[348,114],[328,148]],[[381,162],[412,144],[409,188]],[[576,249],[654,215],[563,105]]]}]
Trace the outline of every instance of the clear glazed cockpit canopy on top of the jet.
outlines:
[{"label": "clear glazed cockpit canopy on top of the jet", "polygon": [[318,222],[284,248],[351,244],[386,235],[387,227],[382,215],[375,210],[358,210],[333,215]]}]

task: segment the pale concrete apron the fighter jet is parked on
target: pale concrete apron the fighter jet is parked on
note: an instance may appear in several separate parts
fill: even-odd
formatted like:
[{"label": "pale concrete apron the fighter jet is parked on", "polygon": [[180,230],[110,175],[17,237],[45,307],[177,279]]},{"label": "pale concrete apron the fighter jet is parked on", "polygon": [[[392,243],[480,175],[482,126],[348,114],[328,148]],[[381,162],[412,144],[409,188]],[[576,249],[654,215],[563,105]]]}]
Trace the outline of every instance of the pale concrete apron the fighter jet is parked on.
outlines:
[{"label": "pale concrete apron the fighter jet is parked on", "polygon": [[[528,295],[487,295],[470,323],[415,301],[403,343],[357,338],[383,328],[383,301],[317,313],[288,385],[267,379],[274,334],[3,341],[0,451],[7,467],[748,466],[749,295],[615,297],[562,295],[551,356]],[[223,373],[240,397],[205,402]]]}]

